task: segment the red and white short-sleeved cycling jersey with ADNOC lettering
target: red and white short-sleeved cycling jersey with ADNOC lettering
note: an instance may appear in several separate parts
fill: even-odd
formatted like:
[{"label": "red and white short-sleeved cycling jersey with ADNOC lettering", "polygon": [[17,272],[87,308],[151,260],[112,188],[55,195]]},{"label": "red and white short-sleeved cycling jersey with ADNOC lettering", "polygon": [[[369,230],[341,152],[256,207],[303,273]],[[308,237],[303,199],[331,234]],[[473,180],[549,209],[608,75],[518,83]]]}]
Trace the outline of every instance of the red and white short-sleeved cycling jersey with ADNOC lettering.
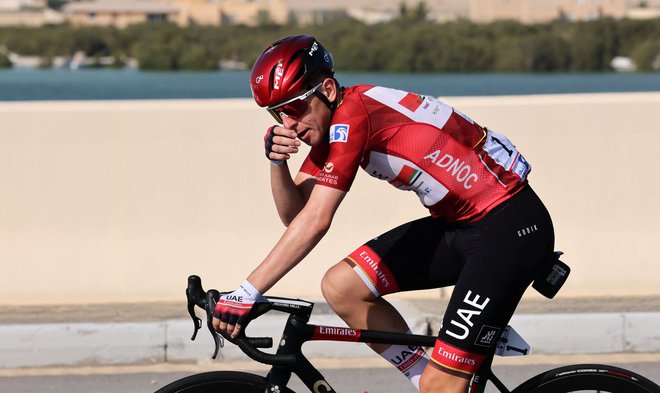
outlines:
[{"label": "red and white short-sleeved cycling jersey with ADNOC lettering", "polygon": [[417,194],[434,217],[470,222],[513,196],[531,166],[504,136],[433,98],[379,86],[344,90],[329,143],[301,171],[348,191],[358,167]]}]

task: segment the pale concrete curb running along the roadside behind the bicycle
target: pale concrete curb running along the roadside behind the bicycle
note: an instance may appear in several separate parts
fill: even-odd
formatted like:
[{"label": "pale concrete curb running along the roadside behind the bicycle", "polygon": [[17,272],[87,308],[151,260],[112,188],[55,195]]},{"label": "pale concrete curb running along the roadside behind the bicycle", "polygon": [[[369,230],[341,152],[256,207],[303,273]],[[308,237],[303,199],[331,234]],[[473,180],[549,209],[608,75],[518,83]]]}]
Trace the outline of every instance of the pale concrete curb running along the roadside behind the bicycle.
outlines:
[{"label": "pale concrete curb running along the roadside behind the bicycle", "polygon": [[[437,315],[398,305],[414,332],[436,331]],[[252,336],[279,338],[283,315],[265,315],[248,328]],[[312,323],[345,326],[335,315],[312,316]],[[511,325],[545,355],[660,353],[660,312],[521,314]],[[205,327],[190,341],[190,320],[126,323],[58,323],[0,326],[0,368],[100,366],[124,364],[208,363],[213,340]],[[315,342],[309,357],[369,357],[362,344]],[[246,360],[234,345],[221,349],[218,360]]]}]

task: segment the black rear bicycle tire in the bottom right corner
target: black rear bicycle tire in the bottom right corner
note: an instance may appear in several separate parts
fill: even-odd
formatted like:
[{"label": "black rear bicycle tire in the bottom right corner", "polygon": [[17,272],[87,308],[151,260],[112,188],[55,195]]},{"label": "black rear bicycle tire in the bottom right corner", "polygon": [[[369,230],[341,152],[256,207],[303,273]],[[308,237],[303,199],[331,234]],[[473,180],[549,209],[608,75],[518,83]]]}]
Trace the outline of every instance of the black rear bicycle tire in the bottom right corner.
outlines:
[{"label": "black rear bicycle tire in the bottom right corner", "polygon": [[602,364],[576,364],[541,373],[512,393],[660,393],[660,387],[632,371]]}]

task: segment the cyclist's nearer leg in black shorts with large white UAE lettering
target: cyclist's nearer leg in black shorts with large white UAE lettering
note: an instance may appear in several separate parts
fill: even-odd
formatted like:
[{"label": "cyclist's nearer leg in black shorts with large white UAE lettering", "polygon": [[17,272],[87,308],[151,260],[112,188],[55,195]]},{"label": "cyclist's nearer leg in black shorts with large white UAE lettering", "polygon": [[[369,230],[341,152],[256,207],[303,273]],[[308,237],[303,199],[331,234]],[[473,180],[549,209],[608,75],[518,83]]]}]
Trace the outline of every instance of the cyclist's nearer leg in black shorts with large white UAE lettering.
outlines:
[{"label": "cyclist's nearer leg in black shorts with large white UAE lettering", "polygon": [[447,236],[465,266],[422,377],[422,391],[429,392],[465,391],[554,247],[552,221],[529,188]]}]

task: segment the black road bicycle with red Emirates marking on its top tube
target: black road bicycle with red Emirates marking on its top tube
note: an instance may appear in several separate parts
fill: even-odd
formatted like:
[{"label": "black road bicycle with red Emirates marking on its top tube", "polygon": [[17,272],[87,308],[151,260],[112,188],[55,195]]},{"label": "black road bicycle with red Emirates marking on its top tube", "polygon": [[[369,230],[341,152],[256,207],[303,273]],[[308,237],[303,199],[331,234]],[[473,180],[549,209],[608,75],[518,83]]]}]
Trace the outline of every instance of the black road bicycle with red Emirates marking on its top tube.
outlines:
[{"label": "black road bicycle with red Emirates marking on its top tube", "polygon": [[[212,311],[220,295],[221,293],[214,289],[204,291],[198,276],[188,278],[186,289],[188,312],[195,324],[192,339],[196,338],[197,332],[202,327],[202,320],[195,314],[195,306],[197,306],[206,312],[206,325],[215,340],[214,359],[224,340],[227,340],[236,344],[253,360],[271,365],[272,368],[265,377],[237,371],[195,374],[174,381],[156,393],[293,393],[293,390],[287,387],[292,374],[297,375],[311,392],[336,392],[303,355],[301,347],[305,342],[326,340],[415,345],[427,348],[435,345],[435,336],[313,325],[309,323],[313,303],[300,299],[267,297],[268,302],[254,305],[249,320],[254,320],[272,310],[289,314],[277,351],[274,354],[268,353],[259,348],[272,348],[272,337],[248,337],[243,329],[238,338],[232,339],[226,333],[220,335],[214,331],[211,324]],[[500,336],[496,355],[527,355],[529,351],[530,346],[509,326]],[[660,393],[660,387],[649,379],[619,367],[602,364],[576,364],[555,368],[510,390],[491,369],[494,356],[488,357],[472,378],[470,393],[484,392],[488,382],[502,393]]]}]

